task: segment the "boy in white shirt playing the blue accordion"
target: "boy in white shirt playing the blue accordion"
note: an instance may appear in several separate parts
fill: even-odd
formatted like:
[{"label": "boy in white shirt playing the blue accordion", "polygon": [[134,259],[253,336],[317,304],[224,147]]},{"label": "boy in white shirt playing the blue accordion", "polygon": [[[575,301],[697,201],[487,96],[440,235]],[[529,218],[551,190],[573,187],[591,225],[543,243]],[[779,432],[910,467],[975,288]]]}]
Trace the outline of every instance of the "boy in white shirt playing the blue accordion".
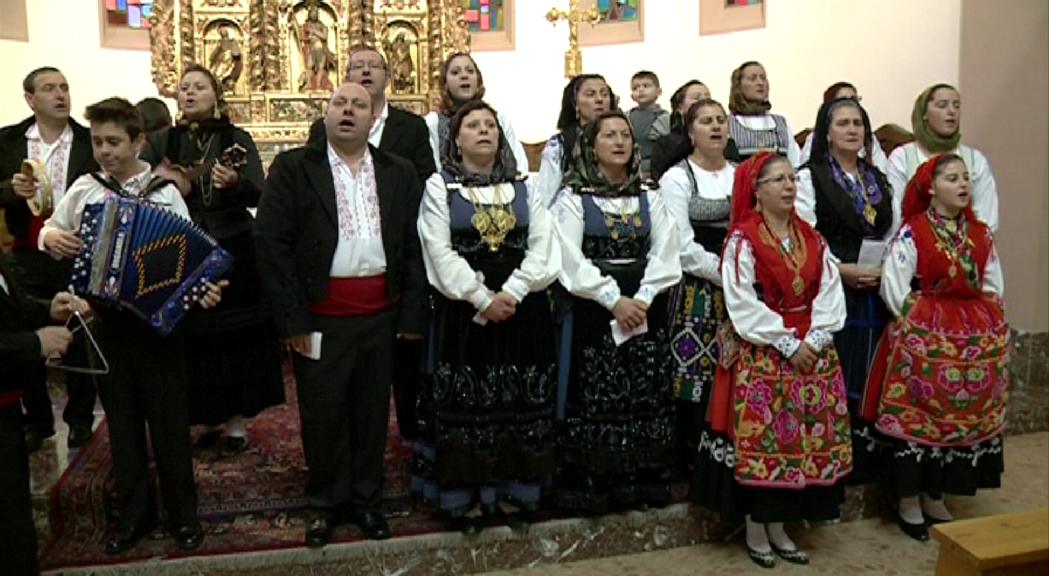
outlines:
[{"label": "boy in white shirt playing the blue accordion", "polygon": [[[84,174],[66,191],[40,232],[39,248],[56,258],[73,258],[83,242],[77,233],[84,207],[116,194],[162,206],[189,219],[178,189],[155,176],[138,153],[145,143],[141,113],[130,102],[110,98],[87,107],[91,148],[102,172]],[[219,282],[224,285],[223,282]],[[209,284],[205,307],[218,303],[220,285]],[[186,403],[186,360],[177,330],[160,337],[130,312],[95,304],[92,325],[109,362],[99,396],[109,421],[119,518],[104,542],[108,554],[134,547],[157,524],[149,482],[149,441],[156,456],[168,531],[183,550],[204,539],[197,519]]]}]

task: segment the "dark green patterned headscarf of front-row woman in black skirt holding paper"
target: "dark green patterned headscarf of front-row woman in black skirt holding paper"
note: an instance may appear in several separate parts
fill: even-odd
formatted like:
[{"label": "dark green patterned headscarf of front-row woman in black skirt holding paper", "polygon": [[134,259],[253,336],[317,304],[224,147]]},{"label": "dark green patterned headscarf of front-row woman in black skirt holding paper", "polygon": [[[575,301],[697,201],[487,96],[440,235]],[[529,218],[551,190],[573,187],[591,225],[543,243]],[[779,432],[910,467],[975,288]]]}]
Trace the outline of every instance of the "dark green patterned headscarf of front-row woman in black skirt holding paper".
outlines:
[{"label": "dark green patterned headscarf of front-row woman in black skirt holding paper", "polygon": [[620,110],[605,112],[586,125],[583,133],[576,141],[573,163],[564,175],[563,185],[572,188],[576,194],[594,194],[605,197],[637,196],[641,193],[641,149],[634,143],[630,161],[626,166],[626,182],[614,185],[604,177],[597,164],[597,153],[594,144],[601,124],[611,118],[621,118],[626,125],[630,121]]}]

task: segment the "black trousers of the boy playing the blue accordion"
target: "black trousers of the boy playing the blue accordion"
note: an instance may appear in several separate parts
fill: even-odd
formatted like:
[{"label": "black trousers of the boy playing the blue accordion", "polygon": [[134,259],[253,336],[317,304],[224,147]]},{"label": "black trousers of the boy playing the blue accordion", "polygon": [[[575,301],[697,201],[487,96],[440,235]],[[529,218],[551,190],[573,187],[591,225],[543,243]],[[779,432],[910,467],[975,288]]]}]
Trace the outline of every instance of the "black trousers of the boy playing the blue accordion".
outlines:
[{"label": "black trousers of the boy playing the blue accordion", "polygon": [[186,353],[177,334],[160,337],[130,313],[99,311],[98,338],[109,361],[99,382],[109,421],[119,526],[152,521],[146,427],[156,457],[160,496],[170,528],[197,524],[196,485],[186,404]]}]

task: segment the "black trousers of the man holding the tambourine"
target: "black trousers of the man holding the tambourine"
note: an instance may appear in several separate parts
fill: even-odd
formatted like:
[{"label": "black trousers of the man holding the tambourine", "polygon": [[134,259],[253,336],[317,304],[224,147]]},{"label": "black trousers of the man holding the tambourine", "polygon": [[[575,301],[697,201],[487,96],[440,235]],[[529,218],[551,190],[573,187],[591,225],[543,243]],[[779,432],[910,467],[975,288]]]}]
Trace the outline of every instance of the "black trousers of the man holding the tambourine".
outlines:
[{"label": "black trousers of the man holding the tambourine", "polygon": [[[37,250],[16,250],[9,257],[12,269],[19,283],[31,296],[50,300],[69,283],[70,263],[57,261]],[[87,348],[82,334],[69,346],[65,362],[83,366],[87,362]],[[70,427],[90,426],[94,422],[94,379],[88,375],[66,372],[66,393],[69,401],[62,411],[62,420]],[[55,429],[51,399],[47,394],[47,372],[41,364],[34,378],[27,381],[22,407],[25,424],[33,430],[46,434]]]}]

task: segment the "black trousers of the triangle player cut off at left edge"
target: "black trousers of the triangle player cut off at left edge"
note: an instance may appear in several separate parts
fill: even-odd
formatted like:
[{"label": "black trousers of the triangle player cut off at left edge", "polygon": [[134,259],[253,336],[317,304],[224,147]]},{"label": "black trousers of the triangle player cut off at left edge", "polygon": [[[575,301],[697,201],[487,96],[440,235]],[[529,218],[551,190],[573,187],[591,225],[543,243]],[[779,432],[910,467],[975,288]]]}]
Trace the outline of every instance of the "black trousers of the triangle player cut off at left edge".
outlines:
[{"label": "black trousers of the triangle player cut off at left edge", "polygon": [[3,573],[40,574],[29,498],[29,454],[18,404],[0,408],[0,518]]}]

